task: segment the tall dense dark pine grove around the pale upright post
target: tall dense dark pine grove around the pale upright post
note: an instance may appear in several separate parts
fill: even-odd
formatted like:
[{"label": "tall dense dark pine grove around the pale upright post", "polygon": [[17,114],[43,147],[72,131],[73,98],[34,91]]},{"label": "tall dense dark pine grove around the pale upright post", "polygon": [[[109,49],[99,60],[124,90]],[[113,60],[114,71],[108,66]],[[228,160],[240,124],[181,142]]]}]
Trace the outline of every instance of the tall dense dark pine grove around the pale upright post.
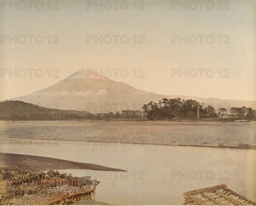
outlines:
[{"label": "tall dense dark pine grove around the pale upright post", "polygon": [[217,117],[212,106],[202,107],[199,102],[188,99],[162,99],[158,103],[149,102],[143,105],[147,119],[171,119],[179,117],[197,118],[198,109],[201,118]]}]

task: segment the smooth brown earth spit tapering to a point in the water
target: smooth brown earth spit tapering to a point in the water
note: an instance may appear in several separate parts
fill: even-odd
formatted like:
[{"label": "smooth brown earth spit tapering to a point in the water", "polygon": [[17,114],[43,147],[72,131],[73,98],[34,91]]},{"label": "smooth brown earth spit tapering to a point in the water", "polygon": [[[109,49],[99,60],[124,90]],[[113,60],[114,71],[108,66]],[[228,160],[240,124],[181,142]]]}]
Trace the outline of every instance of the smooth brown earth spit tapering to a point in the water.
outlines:
[{"label": "smooth brown earth spit tapering to a point in the water", "polygon": [[90,169],[101,171],[123,171],[98,164],[88,164],[34,155],[20,155],[0,152],[0,168],[17,171],[36,172],[50,169]]}]

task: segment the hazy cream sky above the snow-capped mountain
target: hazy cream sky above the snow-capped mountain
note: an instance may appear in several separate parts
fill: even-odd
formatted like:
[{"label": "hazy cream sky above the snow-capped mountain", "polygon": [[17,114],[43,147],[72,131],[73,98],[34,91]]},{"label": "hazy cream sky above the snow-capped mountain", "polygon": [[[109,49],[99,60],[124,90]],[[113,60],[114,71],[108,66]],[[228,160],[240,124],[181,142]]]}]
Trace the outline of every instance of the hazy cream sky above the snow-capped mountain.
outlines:
[{"label": "hazy cream sky above the snow-capped mountain", "polygon": [[[12,1],[13,4],[15,2]],[[105,8],[110,4],[104,2],[102,10],[99,6],[96,9],[94,6],[87,9],[90,3],[95,3],[94,1],[60,0],[59,5],[57,1],[52,1],[50,10],[48,0],[42,1],[44,8],[41,10],[36,9],[35,4],[29,9],[29,3],[24,2],[25,9],[20,9],[24,7],[24,3],[16,2],[15,10],[15,6],[11,9],[9,5],[5,6],[9,1],[1,1],[1,100],[44,89],[81,68],[96,69],[98,72],[100,69],[109,69],[112,71],[110,79],[154,93],[255,100],[254,0],[222,1],[221,9],[219,0],[213,1],[212,10],[209,9],[211,3],[208,3],[208,9],[205,3],[200,9],[198,1],[190,4],[190,1],[187,1],[187,10],[185,6],[180,9],[180,5],[172,9],[172,6],[180,1],[167,0],[137,1],[137,9],[134,9],[133,0],[127,1],[129,7],[126,10],[120,7],[123,1],[117,3],[117,9],[114,8],[115,3],[109,1],[112,4],[109,10]],[[100,1],[97,3],[100,4]],[[195,7],[195,3],[197,8],[193,10],[191,8]],[[52,10],[53,6],[59,9]],[[122,3],[122,6],[125,8],[126,3]],[[144,10],[138,10],[139,6]],[[225,6],[230,9],[224,10]],[[40,3],[37,7],[41,7]],[[17,44],[15,40],[11,43],[4,40],[9,38],[9,35],[17,35]],[[21,35],[26,36],[26,42],[23,44],[20,42],[25,40]],[[44,40],[39,44],[35,42],[35,37],[32,37],[30,44],[27,35],[42,35]],[[59,39],[56,40],[57,37],[53,38],[53,35],[58,35]],[[107,44],[103,41],[100,44],[98,40],[95,44],[92,40],[87,43],[87,35],[110,35],[112,42]],[[112,35],[127,35],[129,41],[125,44],[117,37],[115,44]],[[137,42],[145,37],[142,40],[144,44],[134,44],[134,35]],[[185,40],[181,44],[179,40],[172,43],[172,35],[188,35],[190,38],[187,44]],[[191,35],[198,38],[195,44],[190,43],[195,40]],[[212,35],[214,41],[207,43],[204,36],[200,43],[198,35]],[[37,40],[41,41],[41,38],[38,37]],[[59,44],[52,44],[53,40]],[[104,40],[107,42],[108,36]],[[212,41],[210,37],[207,40]],[[224,40],[230,43],[224,44]],[[31,78],[29,71],[24,78],[15,78],[14,75],[9,78],[9,74],[4,74],[9,69],[17,69],[20,72],[21,69],[34,71]],[[35,76],[37,69],[44,71],[41,78]],[[59,78],[52,78],[53,73],[49,78],[49,69],[52,72],[58,69]],[[119,69],[117,77],[113,69]],[[129,71],[127,78],[121,76],[122,69]],[[144,70],[144,78],[134,78],[134,69],[137,76]],[[186,78],[185,74],[181,78],[179,74],[172,77],[174,69],[188,69],[188,77]],[[198,69],[204,69],[202,77]],[[207,77],[205,73],[208,69],[211,69],[207,73],[208,76],[214,71],[212,78]],[[190,77],[195,75],[195,70],[198,72],[197,76]],[[40,72],[37,74],[39,76]],[[125,72],[122,74],[125,75]],[[225,74],[229,78],[224,78]]]}]

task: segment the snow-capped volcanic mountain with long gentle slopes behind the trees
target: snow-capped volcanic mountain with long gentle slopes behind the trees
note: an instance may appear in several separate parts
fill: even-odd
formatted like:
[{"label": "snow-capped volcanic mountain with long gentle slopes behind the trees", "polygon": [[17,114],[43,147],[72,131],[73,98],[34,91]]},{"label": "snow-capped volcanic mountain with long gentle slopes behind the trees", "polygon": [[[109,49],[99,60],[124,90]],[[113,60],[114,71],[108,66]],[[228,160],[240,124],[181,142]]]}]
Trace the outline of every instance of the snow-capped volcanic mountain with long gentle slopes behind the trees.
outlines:
[{"label": "snow-capped volcanic mountain with long gentle slopes behind the trees", "polygon": [[[87,73],[80,70],[63,81],[46,89],[17,97],[29,103],[58,103],[62,110],[86,110],[90,113],[108,113],[110,111],[139,110],[143,104],[158,102],[163,98],[193,99],[198,102],[212,103],[218,109],[218,104],[230,104],[230,107],[252,107],[254,101],[221,100],[216,98],[200,98],[193,96],[160,95],[136,89],[122,82],[115,82],[99,73]],[[225,107],[222,106],[222,107]],[[228,107],[226,105],[226,107]],[[228,108],[227,108],[228,109]]]}]

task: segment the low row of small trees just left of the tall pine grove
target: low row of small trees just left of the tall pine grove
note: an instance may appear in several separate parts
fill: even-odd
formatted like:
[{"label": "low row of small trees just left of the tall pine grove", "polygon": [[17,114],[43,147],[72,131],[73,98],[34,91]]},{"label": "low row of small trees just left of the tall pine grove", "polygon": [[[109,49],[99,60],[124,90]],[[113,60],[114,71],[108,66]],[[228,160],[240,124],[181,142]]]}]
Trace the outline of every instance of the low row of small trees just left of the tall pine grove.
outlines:
[{"label": "low row of small trees just left of the tall pine grove", "polygon": [[122,110],[120,114],[118,111],[116,114],[113,112],[109,113],[97,113],[97,119],[140,119],[144,118],[144,113],[139,110]]}]

